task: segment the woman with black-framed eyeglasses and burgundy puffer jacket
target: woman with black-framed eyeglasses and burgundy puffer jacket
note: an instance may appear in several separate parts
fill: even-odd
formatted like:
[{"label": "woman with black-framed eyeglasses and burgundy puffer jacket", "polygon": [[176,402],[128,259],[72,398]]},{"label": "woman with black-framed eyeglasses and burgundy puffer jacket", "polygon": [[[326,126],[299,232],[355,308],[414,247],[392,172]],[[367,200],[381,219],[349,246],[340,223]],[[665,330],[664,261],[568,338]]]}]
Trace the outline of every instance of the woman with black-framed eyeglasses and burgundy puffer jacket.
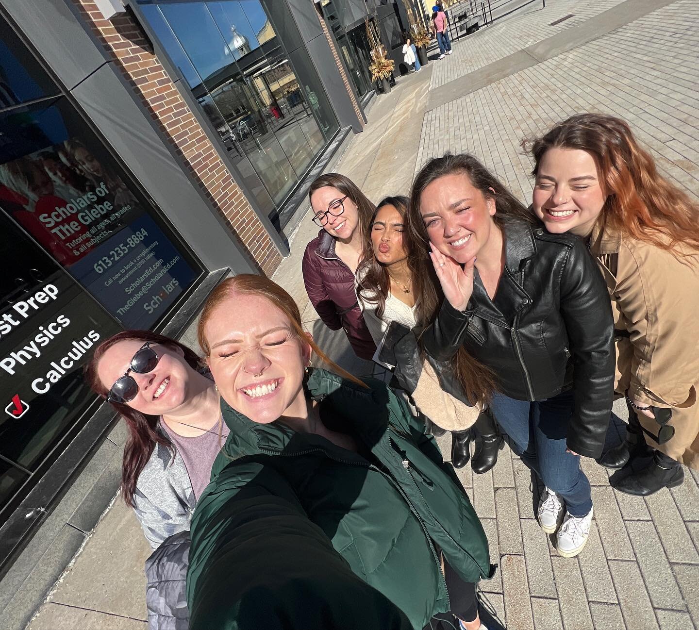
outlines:
[{"label": "woman with black-framed eyeglasses and burgundy puffer jacket", "polygon": [[376,352],[354,291],[354,273],[362,252],[362,230],[375,206],[354,182],[326,173],[310,186],[313,222],[321,229],[306,245],[303,283],[323,323],[344,329],[354,354],[371,359]]}]

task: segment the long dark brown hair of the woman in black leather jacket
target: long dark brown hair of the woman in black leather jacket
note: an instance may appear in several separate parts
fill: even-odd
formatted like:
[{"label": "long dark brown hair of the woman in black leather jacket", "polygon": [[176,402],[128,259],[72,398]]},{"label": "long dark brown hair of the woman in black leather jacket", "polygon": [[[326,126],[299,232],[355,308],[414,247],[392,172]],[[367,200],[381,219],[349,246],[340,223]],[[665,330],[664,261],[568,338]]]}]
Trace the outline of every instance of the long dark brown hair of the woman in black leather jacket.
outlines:
[{"label": "long dark brown hair of the woman in black leather jacket", "polygon": [[[535,224],[535,217],[473,155],[445,153],[425,164],[417,174],[410,190],[410,206],[405,215],[403,243],[408,251],[408,266],[415,291],[415,315],[418,325],[428,327],[437,317],[444,294],[429,257],[430,241],[420,213],[424,190],[433,181],[447,175],[462,173],[484,197],[496,203],[493,220],[497,224],[510,219]],[[486,403],[496,389],[496,376],[487,366],[472,357],[466,348],[459,348],[454,356],[453,368],[463,391],[471,403]]]}]

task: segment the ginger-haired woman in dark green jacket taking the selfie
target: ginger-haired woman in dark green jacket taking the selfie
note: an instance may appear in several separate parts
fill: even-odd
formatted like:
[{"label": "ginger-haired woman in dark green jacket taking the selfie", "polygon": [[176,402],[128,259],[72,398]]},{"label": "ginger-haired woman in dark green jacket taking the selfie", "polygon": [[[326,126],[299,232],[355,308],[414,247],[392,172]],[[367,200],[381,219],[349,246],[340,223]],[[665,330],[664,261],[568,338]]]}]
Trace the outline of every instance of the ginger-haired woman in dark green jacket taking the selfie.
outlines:
[{"label": "ginger-haired woman in dark green jacket taking the selfie", "polygon": [[[476,583],[495,570],[487,540],[454,469],[408,404],[380,380],[358,380],[333,364],[303,330],[294,299],[261,275],[236,275],[214,289],[198,336],[230,429],[192,520],[187,599],[199,618],[208,610],[220,618],[215,608],[225,605],[225,592],[212,597],[208,589],[231,573],[217,563],[226,523],[272,496],[303,506],[352,571],[413,628],[447,613],[452,624],[458,615],[461,627],[480,628]],[[332,371],[311,367],[314,354]],[[296,553],[289,547],[291,559]],[[299,596],[301,614],[303,598],[317,593]],[[218,625],[237,627],[236,610],[229,614]]]}]

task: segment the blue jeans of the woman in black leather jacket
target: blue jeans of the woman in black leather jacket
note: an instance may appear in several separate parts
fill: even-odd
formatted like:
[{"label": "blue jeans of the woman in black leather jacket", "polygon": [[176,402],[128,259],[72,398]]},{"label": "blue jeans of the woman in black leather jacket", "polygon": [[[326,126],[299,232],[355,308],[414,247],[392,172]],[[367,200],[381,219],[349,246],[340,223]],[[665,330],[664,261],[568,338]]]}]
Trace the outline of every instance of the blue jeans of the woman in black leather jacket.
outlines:
[{"label": "blue jeans of the woman in black leather jacket", "polygon": [[510,436],[522,461],[547,488],[559,494],[572,516],[592,509],[590,482],[580,469],[580,457],[565,452],[572,392],[544,401],[518,401],[495,394],[491,410],[500,428]]}]

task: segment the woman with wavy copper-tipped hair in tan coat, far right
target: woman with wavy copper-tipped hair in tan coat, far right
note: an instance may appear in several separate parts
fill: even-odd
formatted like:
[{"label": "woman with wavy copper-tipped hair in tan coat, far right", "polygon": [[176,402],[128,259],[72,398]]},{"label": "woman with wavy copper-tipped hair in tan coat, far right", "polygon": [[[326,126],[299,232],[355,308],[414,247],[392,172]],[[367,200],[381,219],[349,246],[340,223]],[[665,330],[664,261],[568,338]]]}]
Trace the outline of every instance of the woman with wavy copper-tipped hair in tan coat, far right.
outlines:
[{"label": "woman with wavy copper-tipped hair in tan coat, far right", "polygon": [[699,205],[658,173],[619,118],[574,115],[531,154],[534,212],[552,234],[588,243],[612,299],[616,392],[629,419],[600,464],[640,460],[640,471],[612,478],[628,494],[680,485],[682,464],[699,469]]}]

